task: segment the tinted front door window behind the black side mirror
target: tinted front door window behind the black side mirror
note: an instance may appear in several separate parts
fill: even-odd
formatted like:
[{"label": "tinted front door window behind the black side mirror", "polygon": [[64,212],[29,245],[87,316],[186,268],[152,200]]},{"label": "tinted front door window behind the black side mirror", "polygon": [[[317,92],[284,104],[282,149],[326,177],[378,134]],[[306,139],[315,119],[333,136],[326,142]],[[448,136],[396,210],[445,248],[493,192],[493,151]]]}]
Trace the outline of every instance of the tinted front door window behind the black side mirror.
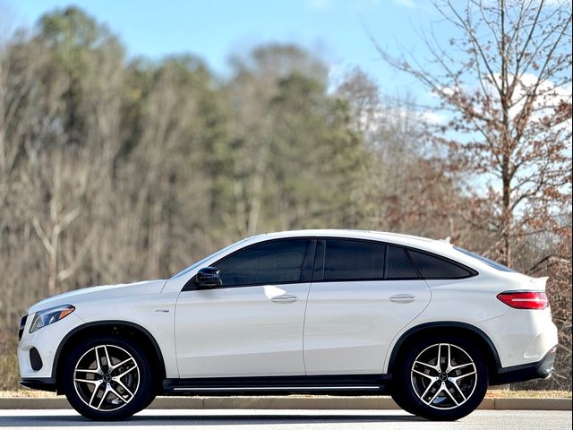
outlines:
[{"label": "tinted front door window behind the black side mirror", "polygon": [[278,284],[300,280],[306,239],[252,245],[216,264],[223,286]]}]

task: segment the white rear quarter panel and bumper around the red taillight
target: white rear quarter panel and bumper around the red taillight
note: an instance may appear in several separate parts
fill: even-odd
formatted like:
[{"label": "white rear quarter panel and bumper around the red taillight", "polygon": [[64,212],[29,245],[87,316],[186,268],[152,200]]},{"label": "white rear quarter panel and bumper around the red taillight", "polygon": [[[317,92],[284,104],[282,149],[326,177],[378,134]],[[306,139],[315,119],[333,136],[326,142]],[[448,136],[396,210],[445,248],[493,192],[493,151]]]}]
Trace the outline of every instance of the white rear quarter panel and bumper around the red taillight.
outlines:
[{"label": "white rear quarter panel and bumper around the red taillight", "polygon": [[390,372],[389,357],[400,336],[423,323],[447,321],[475,326],[492,340],[503,367],[539,361],[557,344],[557,329],[549,308],[513,309],[496,297],[503,291],[544,290],[544,280],[490,269],[466,280],[426,282],[432,300],[422,314],[396,333],[384,360],[385,373]]}]

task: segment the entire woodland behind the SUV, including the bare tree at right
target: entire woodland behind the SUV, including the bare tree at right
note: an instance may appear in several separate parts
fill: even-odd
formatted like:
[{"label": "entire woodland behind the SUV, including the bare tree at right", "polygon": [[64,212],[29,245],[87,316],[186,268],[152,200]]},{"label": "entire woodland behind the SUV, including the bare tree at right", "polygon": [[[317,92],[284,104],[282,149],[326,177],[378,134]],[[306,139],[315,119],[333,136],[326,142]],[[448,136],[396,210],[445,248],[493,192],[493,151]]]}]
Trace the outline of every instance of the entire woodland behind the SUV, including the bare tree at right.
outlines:
[{"label": "entire woodland behind the SUV, including the bare tree at right", "polygon": [[127,58],[75,7],[0,38],[0,389],[44,297],[167,278],[261,232],[363,228],[549,276],[557,374],[519,386],[571,390],[570,5],[436,7],[459,39],[423,38],[433,68],[379,48],[432,107],[359,69],[332,82],[295,45],[231,56],[225,78]]}]

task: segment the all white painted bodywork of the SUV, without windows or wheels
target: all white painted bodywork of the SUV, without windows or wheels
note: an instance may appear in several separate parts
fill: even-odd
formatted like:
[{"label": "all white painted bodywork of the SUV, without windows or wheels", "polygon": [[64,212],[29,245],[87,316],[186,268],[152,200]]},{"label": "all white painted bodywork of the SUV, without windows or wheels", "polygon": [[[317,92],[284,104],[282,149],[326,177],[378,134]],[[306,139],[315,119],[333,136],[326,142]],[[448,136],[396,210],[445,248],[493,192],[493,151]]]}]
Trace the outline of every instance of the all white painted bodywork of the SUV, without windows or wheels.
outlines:
[{"label": "all white painted bodywork of the SUV, without windows or wheels", "polygon": [[[464,263],[479,275],[466,280],[418,280],[414,281],[414,290],[408,285],[412,281],[316,283],[306,314],[310,284],[180,294],[196,271],[227,254],[246,245],[298,236],[363,238],[411,246]],[[21,376],[49,377],[57,345],[69,331],[83,323],[110,320],[135,323],[149,331],[161,349],[169,378],[304,374],[304,319],[308,374],[388,372],[389,355],[404,332],[422,323],[444,321],[468,323],[484,331],[498,349],[502,366],[533,363],[557,343],[550,310],[511,309],[496,295],[544,287],[545,280],[497,271],[445,242],[414,236],[355,230],[254,236],[167,281],[85,288],[32,306],[30,314],[56,305],[74,305],[76,311],[32,334],[28,332],[33,318],[30,315],[18,350]],[[408,294],[415,300],[408,303],[404,296]],[[288,296],[297,299],[292,301]],[[30,369],[28,351],[32,346],[38,348],[44,360],[39,372]]]}]

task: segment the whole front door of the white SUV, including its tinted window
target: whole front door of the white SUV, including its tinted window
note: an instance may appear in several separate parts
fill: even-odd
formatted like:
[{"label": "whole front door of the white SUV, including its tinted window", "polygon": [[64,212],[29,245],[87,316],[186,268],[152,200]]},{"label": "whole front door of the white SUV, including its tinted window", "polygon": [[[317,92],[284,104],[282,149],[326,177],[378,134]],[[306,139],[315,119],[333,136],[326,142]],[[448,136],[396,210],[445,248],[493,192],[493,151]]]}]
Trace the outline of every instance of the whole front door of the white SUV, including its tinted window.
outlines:
[{"label": "whole front door of the white SUV, including its tinted window", "polygon": [[303,326],[315,240],[250,245],[214,263],[223,285],[182,291],[181,378],[304,374]]}]

